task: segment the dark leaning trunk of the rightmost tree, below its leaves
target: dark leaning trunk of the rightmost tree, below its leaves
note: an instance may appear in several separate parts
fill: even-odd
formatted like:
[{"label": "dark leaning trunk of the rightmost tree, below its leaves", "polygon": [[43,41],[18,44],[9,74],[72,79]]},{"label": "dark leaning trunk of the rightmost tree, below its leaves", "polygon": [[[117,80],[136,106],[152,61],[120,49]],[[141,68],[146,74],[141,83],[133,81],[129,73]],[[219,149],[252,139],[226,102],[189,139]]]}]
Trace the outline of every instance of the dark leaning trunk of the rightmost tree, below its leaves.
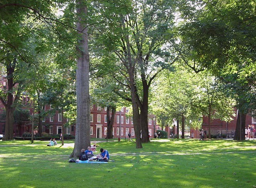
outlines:
[{"label": "dark leaning trunk of the rightmost tree, below its leaves", "polygon": [[238,109],[234,140],[245,140],[245,120],[246,114],[242,113]]}]

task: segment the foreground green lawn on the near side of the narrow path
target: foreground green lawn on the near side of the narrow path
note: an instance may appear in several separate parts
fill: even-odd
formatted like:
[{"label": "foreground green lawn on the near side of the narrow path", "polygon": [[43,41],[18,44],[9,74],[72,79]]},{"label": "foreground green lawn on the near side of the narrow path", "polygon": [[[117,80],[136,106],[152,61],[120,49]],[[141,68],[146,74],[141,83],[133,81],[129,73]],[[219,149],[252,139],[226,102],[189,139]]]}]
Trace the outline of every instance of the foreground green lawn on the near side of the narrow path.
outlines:
[{"label": "foreground green lawn on the near side of the narrow path", "polygon": [[1,187],[253,187],[256,153],[115,156],[108,164],[68,163],[63,156],[0,158]]}]

